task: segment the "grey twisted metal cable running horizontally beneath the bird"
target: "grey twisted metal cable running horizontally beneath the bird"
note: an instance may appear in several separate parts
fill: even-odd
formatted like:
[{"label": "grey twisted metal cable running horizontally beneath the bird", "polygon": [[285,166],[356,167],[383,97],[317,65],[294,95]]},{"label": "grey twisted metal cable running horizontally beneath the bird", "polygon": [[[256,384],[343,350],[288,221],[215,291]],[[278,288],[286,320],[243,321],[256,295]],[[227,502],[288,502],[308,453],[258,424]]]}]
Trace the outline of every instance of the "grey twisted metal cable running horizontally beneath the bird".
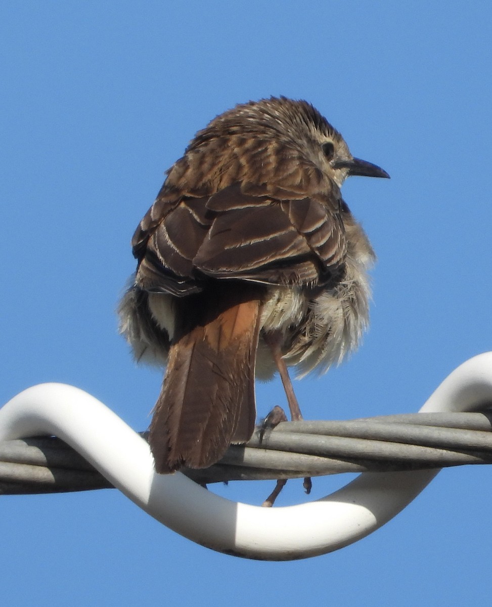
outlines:
[{"label": "grey twisted metal cable running horizontally beneath the bird", "polygon": [[[183,472],[198,483],[218,483],[488,464],[491,430],[490,412],[283,422],[272,430],[258,428],[246,446],[231,446],[215,466]],[[0,444],[4,495],[109,487],[109,481],[58,438]]]}]

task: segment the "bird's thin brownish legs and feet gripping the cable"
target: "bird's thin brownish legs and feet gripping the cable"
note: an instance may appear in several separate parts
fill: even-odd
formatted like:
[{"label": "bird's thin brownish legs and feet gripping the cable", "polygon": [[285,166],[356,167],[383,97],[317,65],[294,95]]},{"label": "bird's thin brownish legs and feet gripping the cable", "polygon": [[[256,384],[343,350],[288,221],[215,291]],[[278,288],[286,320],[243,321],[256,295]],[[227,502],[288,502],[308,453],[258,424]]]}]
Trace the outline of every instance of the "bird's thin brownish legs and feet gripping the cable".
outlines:
[{"label": "bird's thin brownish legs and feet gripping the cable", "polygon": [[[277,365],[278,373],[280,374],[280,379],[282,380],[283,389],[285,390],[285,395],[287,397],[287,402],[289,404],[289,410],[291,412],[291,419],[292,419],[292,421],[298,421],[300,419],[303,419],[301,409],[300,409],[299,403],[297,401],[297,397],[295,396],[295,393],[294,393],[294,386],[292,385],[287,365],[285,364],[285,360],[283,359],[283,354],[282,354],[281,347],[280,347],[282,335],[281,335],[280,331],[270,331],[269,333],[265,333],[263,335],[263,338],[265,339],[266,344],[270,348],[272,357],[275,361],[275,365]],[[271,427],[275,427],[281,421],[286,421],[285,413],[283,413],[283,411],[282,411],[282,413],[283,413],[283,418],[282,418],[282,416],[278,415],[278,412],[277,412],[278,409],[280,409],[280,407],[274,407],[272,412],[265,418],[264,424],[268,424]],[[275,419],[274,418],[270,419],[271,416],[274,415],[274,412],[275,412]],[[262,506],[266,506],[266,507],[273,506],[275,500],[277,499],[278,494],[281,492],[281,490],[285,486],[286,482],[287,481],[285,479],[278,480],[277,485],[275,486],[275,489],[268,496],[268,498],[266,498],[266,500],[263,502]],[[308,493],[308,495],[309,495],[309,493],[311,493],[311,487],[312,487],[311,478],[309,476],[306,476],[306,478],[304,479],[303,487],[304,487],[306,493]]]}]

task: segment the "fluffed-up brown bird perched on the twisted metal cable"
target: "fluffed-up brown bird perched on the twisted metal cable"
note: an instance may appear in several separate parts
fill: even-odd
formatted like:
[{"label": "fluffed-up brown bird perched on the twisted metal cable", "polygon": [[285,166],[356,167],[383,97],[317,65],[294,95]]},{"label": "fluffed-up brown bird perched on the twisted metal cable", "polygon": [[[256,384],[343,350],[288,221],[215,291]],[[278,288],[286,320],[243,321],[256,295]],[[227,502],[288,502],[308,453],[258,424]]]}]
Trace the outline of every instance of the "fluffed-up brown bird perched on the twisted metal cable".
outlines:
[{"label": "fluffed-up brown bird perched on the twisted metal cable", "polygon": [[340,188],[388,178],[352,156],[312,104],[238,104],[190,141],[136,228],[118,308],[137,361],[166,367],[149,444],[155,470],[206,468],[254,432],[255,376],[320,373],[368,326],[375,254]]}]

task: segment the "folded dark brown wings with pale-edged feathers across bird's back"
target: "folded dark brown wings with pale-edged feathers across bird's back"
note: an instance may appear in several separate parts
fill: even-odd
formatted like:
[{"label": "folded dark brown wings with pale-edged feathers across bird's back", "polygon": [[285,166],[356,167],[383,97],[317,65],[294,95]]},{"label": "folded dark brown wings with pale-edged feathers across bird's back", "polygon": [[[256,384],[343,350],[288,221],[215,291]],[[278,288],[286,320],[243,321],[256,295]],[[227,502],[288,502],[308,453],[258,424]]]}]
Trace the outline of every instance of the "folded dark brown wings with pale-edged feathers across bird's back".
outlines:
[{"label": "folded dark brown wings with pale-edged feathers across bird's back", "polygon": [[257,192],[235,184],[210,197],[158,198],[133,238],[140,286],[180,296],[200,291],[207,277],[326,282],[346,254],[339,200]]}]

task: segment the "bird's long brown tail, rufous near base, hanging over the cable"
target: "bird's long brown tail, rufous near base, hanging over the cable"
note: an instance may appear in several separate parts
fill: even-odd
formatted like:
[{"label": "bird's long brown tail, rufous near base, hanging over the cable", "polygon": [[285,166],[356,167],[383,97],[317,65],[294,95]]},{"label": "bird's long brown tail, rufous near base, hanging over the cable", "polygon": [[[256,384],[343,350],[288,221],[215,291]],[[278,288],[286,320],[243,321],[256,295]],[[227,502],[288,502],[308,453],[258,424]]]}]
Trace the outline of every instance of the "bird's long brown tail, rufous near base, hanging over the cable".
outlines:
[{"label": "bird's long brown tail, rufous near base, hanging over the cable", "polygon": [[157,472],[206,468],[251,438],[260,311],[260,288],[244,283],[180,302],[150,424]]}]

